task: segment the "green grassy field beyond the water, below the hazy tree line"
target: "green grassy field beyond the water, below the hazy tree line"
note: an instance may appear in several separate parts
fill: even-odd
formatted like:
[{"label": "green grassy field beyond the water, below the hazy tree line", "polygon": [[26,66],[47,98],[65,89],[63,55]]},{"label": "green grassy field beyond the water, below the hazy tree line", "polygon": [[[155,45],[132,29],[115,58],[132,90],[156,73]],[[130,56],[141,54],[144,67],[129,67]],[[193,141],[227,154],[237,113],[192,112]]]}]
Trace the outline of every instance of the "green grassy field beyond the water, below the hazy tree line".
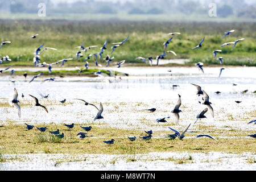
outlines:
[{"label": "green grassy field beyond the water, below the hazy tree line", "polygon": [[[225,31],[236,30],[233,34],[222,39]],[[218,65],[219,61],[213,59],[213,50],[222,49],[217,56],[224,57],[224,65],[249,65],[255,66],[256,51],[256,24],[254,22],[155,22],[155,21],[131,21],[131,20],[0,20],[0,41],[11,41],[0,48],[0,56],[9,55],[11,62],[4,61],[1,67],[8,65],[32,66],[33,52],[41,44],[44,47],[53,47],[57,51],[46,50],[40,56],[41,63],[52,63],[64,58],[72,57],[76,60],[75,48],[85,40],[85,47],[97,45],[97,48],[89,49],[79,61],[68,61],[67,66],[84,65],[85,57],[89,54],[100,52],[105,39],[108,40],[107,49],[103,54],[110,55],[113,42],[121,42],[127,36],[129,40],[115,49],[112,62],[126,60],[126,63],[142,63],[135,60],[138,56],[153,57],[162,54],[163,43],[170,36],[168,32],[181,32],[175,35],[166,51],[175,51],[177,56],[167,54],[165,59],[190,59],[188,65],[202,61],[205,65]],[[36,39],[30,36],[38,33]],[[192,50],[205,36],[205,42],[200,49]],[[232,51],[232,46],[220,47],[225,42],[239,42]],[[101,59],[100,64],[105,65]],[[94,58],[89,65],[94,65]],[[113,64],[113,63],[112,63]]]}]

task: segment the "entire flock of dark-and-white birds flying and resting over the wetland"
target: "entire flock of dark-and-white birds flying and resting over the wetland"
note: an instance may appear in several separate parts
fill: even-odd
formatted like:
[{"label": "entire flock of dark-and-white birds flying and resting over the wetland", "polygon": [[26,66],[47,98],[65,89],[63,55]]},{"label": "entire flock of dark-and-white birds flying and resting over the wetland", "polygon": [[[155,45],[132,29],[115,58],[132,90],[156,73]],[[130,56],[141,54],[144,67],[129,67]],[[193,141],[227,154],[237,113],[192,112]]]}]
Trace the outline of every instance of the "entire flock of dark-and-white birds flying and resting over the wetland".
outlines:
[{"label": "entire flock of dark-and-white birds flying and resting over the wetland", "polygon": [[[232,32],[234,32],[234,30],[225,32],[225,35],[224,35],[223,38],[225,38],[225,36],[227,36],[227,35],[230,35]],[[35,35],[31,36],[31,38],[35,39],[38,35],[39,35],[39,34],[35,34]],[[168,44],[169,44],[169,43],[171,42],[171,40],[173,39],[173,35],[180,35],[180,32],[173,32],[173,33],[169,33],[169,34],[167,34],[167,35],[172,35],[172,37],[171,37],[170,39],[168,39],[166,42],[164,42],[164,44],[163,44],[163,45],[164,45],[164,47],[163,47],[163,53],[162,53],[162,55],[159,55],[159,56],[156,57],[156,60],[157,60],[156,65],[158,65],[159,59],[164,59],[164,56],[166,56],[166,53],[172,53],[172,54],[174,54],[174,55],[176,56],[176,53],[175,53],[174,51],[167,51],[167,52],[165,52],[165,50],[166,50]],[[111,47],[111,49],[112,49],[111,54],[114,52],[114,50],[115,50],[116,48],[122,46],[128,39],[129,39],[129,36],[128,36],[125,40],[123,40],[122,42],[112,43],[114,46]],[[200,42],[196,47],[193,47],[192,49],[197,49],[197,48],[202,47],[202,44],[203,44],[203,42],[204,42],[204,39],[205,39],[205,37],[201,40],[201,42]],[[232,48],[232,50],[233,50],[234,47],[236,46],[236,44],[237,44],[238,42],[240,42],[241,40],[244,40],[244,38],[238,39],[238,40],[236,40],[235,42],[224,43],[224,44],[221,45],[221,47],[224,47],[224,46],[228,46],[228,45],[230,45],[230,44],[233,44],[233,48]],[[10,41],[2,42],[0,48],[1,48],[2,46],[4,46],[5,44],[7,44],[7,43],[10,44],[11,42],[10,42]],[[99,60],[101,60],[102,53],[104,53],[105,49],[107,49],[107,48],[106,48],[107,43],[108,43],[107,40],[105,40],[104,45],[100,48],[100,52],[94,53],[94,54],[90,54],[90,55],[86,56],[83,61],[86,61],[86,60],[90,59],[91,56],[94,56],[94,61],[95,61],[96,66],[100,66],[100,67],[101,67],[101,65],[98,64],[98,56],[99,56]],[[53,65],[61,63],[61,67],[62,67],[62,66],[64,65],[64,63],[67,62],[68,60],[73,60],[72,58],[65,58],[65,59],[59,60],[59,61],[54,62],[54,63],[49,63],[49,64],[47,64],[46,62],[40,63],[40,55],[42,54],[42,52],[44,52],[44,51],[47,50],[47,49],[57,50],[57,49],[51,48],[51,47],[43,48],[43,46],[44,46],[44,44],[42,44],[40,47],[38,47],[38,48],[35,49],[35,52],[34,52],[34,59],[33,59],[34,67],[48,67],[49,73],[51,74],[51,73],[52,73],[51,69],[52,69],[52,66],[53,66]],[[78,46],[78,47],[77,47],[77,48],[81,48],[81,49],[80,49],[80,51],[78,51],[78,52],[76,53],[76,56],[77,56],[77,59],[76,59],[76,60],[78,61],[78,60],[80,59],[80,57],[83,57],[82,52],[85,52],[85,53],[86,53],[86,52],[88,51],[88,49],[95,48],[95,47],[98,47],[98,46],[89,46],[89,47],[86,47],[86,48],[85,48],[85,47],[84,47],[84,42],[82,42],[81,46]],[[214,59],[216,58],[218,52],[221,52],[221,50],[215,50],[215,51],[213,51],[213,53],[214,53]],[[115,58],[114,56],[106,55],[106,57],[105,57],[105,59],[104,59],[104,60],[107,62],[106,67],[108,67],[108,66],[110,65],[110,63],[112,62],[112,60],[114,60],[114,58]],[[136,59],[143,60],[144,63],[146,63],[146,60],[148,60],[148,63],[149,63],[150,65],[152,65],[152,57],[147,57],[147,58],[145,58],[145,57],[139,56],[139,57],[137,57]],[[222,64],[223,57],[218,57],[218,59],[220,60],[220,64]],[[2,58],[0,59],[0,64],[1,64],[3,61],[11,61],[11,59],[9,58],[9,56],[6,55],[5,57],[2,57]],[[122,61],[119,61],[118,63],[115,63],[115,64],[116,64],[117,67],[119,68],[119,67],[121,67],[121,65],[123,65],[124,63],[125,63],[125,60],[122,60]],[[88,61],[86,61],[85,65],[84,65],[84,66],[85,66],[85,69],[88,69],[88,65],[89,65],[89,63],[88,63]],[[198,67],[198,68],[204,73],[204,70],[203,70],[203,63],[201,63],[201,62],[196,63],[196,67]],[[2,73],[3,71],[7,71],[9,68],[10,68],[10,67],[5,68],[5,69],[3,69],[3,70],[0,70],[0,73]],[[219,74],[218,77],[221,76],[221,72],[222,72],[224,69],[225,69],[225,68],[221,68],[221,69],[220,69],[220,74]],[[81,70],[79,70],[79,72],[81,72]],[[170,71],[170,72],[171,72],[171,71]],[[11,71],[11,74],[13,74],[13,73],[14,73],[14,70]],[[100,74],[100,72],[98,72],[98,74]],[[40,73],[40,74],[38,74],[38,75],[32,77],[32,79],[30,80],[30,82],[34,81],[35,78],[37,78],[37,77],[39,77],[39,76],[41,76],[41,75],[43,75],[43,73]],[[25,77],[25,78],[27,77],[27,73],[26,73],[26,72],[24,73],[24,77]],[[46,79],[46,80],[44,80],[44,81],[54,81],[54,80],[55,80],[55,78],[48,78],[48,79]],[[44,81],[43,81],[43,82],[44,82]],[[196,84],[192,84],[192,85],[194,85],[194,86],[196,87],[196,89],[197,89],[197,95],[198,95],[198,96],[203,96],[203,97],[201,97],[199,103],[200,103],[200,104],[203,104],[203,105],[205,105],[205,106],[207,106],[207,107],[206,107],[203,111],[201,111],[201,113],[197,114],[197,116],[196,116],[196,121],[195,121],[194,123],[189,123],[189,125],[186,127],[186,129],[183,131],[183,133],[181,133],[181,132],[179,132],[179,131],[177,131],[177,130],[175,130],[175,129],[172,129],[171,127],[169,127],[169,129],[174,132],[174,134],[168,134],[168,138],[170,138],[170,139],[175,139],[176,137],[179,137],[179,139],[182,140],[182,139],[185,137],[185,136],[184,136],[185,132],[189,129],[189,127],[191,127],[191,125],[195,125],[196,122],[198,121],[198,119],[201,120],[201,119],[203,119],[203,118],[206,118],[204,114],[207,113],[208,110],[210,111],[212,117],[214,117],[213,107],[211,106],[212,103],[209,101],[209,96],[208,96],[208,94],[207,94],[203,89],[201,89],[201,86],[196,85]],[[177,86],[177,85],[176,85],[176,86]],[[29,96],[34,99],[34,101],[35,101],[35,106],[41,107],[42,109],[44,109],[44,110],[48,113],[48,110],[47,110],[46,106],[41,105],[41,104],[39,103],[38,98],[36,98],[35,96],[32,96],[31,94],[29,94]],[[178,99],[178,101],[177,101],[177,104],[175,105],[174,109],[171,111],[171,113],[173,113],[174,116],[175,116],[175,123],[176,123],[176,125],[179,123],[179,118],[180,118],[179,113],[182,112],[182,111],[179,109],[179,107],[181,106],[181,96],[180,96],[179,94],[178,94],[178,96],[179,96],[179,99]],[[23,97],[23,94],[22,94],[22,97]],[[48,96],[45,96],[45,97],[48,97]],[[84,102],[84,104],[85,104],[86,106],[87,106],[87,105],[92,105],[92,106],[94,106],[94,107],[97,109],[98,112],[97,112],[97,114],[96,114],[96,117],[94,117],[93,121],[96,121],[96,119],[103,119],[103,118],[104,118],[104,117],[102,116],[103,106],[102,106],[102,103],[101,103],[101,102],[100,102],[100,108],[98,109],[98,107],[97,107],[96,105],[93,105],[93,104],[91,104],[91,103],[88,103],[88,102],[86,102],[85,100],[82,100],[82,99],[76,99],[76,100],[80,100],[80,101]],[[13,99],[12,99],[11,102],[12,102],[12,104],[16,107],[16,109],[18,109],[18,116],[21,117],[21,109],[20,109],[20,106],[19,106],[19,104],[18,104],[18,103],[19,103],[19,100],[18,100],[18,92],[17,92],[16,88],[14,88],[14,95],[13,95]],[[64,103],[65,100],[60,101],[60,102],[61,102],[61,103]],[[236,102],[237,102],[237,101],[236,101]],[[237,103],[239,103],[239,101],[238,101]],[[148,110],[148,111],[151,111],[151,112],[154,112],[156,109],[155,109],[155,108],[151,108],[151,109],[147,109],[147,110]],[[159,119],[156,119],[156,122],[158,122],[158,123],[159,123],[159,122],[167,122],[166,119],[168,119],[168,118],[170,118],[170,116],[165,117],[165,118],[159,118]],[[256,120],[250,121],[248,124],[250,124],[250,123],[256,124]],[[27,123],[25,123],[25,124],[26,124],[26,126],[27,126],[26,128],[27,128],[28,130],[31,130],[31,129],[34,128],[34,126],[32,126],[32,125],[28,125]],[[64,125],[67,126],[69,129],[72,129],[72,128],[75,126],[74,123],[72,123],[71,125],[67,125],[67,124],[64,124]],[[80,127],[81,127],[82,129],[84,129],[85,131],[90,131],[90,130],[92,129],[91,126],[89,126],[89,127],[80,126]],[[38,130],[42,131],[42,132],[44,132],[44,131],[47,130],[47,127],[36,127],[36,128],[37,128]],[[64,133],[60,134],[59,129],[56,130],[56,131],[49,131],[49,132],[50,132],[51,134],[56,135],[56,137],[58,137],[58,138],[64,138]],[[143,136],[143,137],[141,137],[141,138],[142,138],[143,140],[151,139],[151,137],[152,137],[152,130],[145,131],[145,132],[146,132],[148,135]],[[180,134],[180,133],[181,133],[181,134]],[[80,138],[85,138],[85,137],[88,137],[86,134],[87,134],[87,133],[85,133],[84,131],[81,131],[80,133],[77,134],[77,136],[80,135]],[[249,135],[249,136],[256,138],[256,134],[254,134],[254,135]],[[207,135],[207,134],[200,134],[200,135],[197,135],[197,136],[196,136],[196,138],[199,138],[199,137],[208,137],[208,138],[211,138],[211,139],[216,140],[215,138],[213,138],[213,137],[211,137],[210,135]],[[127,137],[127,138],[130,139],[131,141],[134,141],[134,140],[136,139],[136,137]],[[107,140],[107,141],[103,141],[103,142],[105,142],[105,143],[107,143],[107,144],[113,144],[113,143],[114,143],[114,139],[112,139],[112,140]]]}]

